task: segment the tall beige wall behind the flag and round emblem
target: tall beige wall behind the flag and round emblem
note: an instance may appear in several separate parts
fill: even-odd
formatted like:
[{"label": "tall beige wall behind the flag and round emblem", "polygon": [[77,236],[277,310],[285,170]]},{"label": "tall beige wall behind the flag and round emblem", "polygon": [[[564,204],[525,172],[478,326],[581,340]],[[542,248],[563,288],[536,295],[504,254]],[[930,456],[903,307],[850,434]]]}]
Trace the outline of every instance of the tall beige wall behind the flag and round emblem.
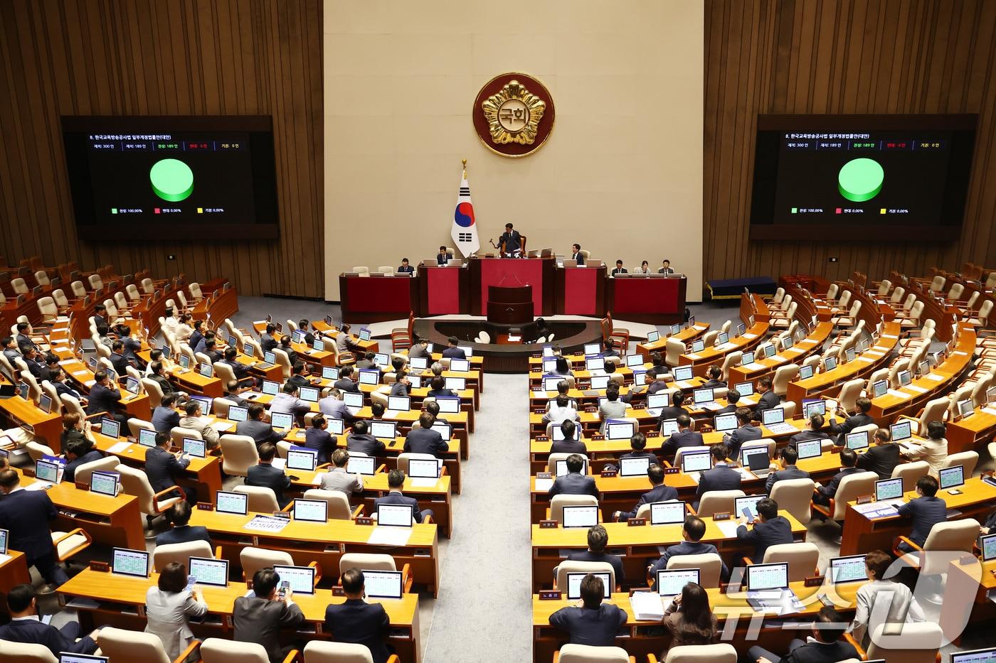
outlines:
[{"label": "tall beige wall behind the flag and round emblem", "polygon": [[[326,299],[354,265],[450,245],[460,159],[482,250],[511,221],[530,248],[627,266],[663,257],[702,288],[702,0],[325,1]],[[550,90],[547,143],[510,159],[470,119],[511,71]]]}]

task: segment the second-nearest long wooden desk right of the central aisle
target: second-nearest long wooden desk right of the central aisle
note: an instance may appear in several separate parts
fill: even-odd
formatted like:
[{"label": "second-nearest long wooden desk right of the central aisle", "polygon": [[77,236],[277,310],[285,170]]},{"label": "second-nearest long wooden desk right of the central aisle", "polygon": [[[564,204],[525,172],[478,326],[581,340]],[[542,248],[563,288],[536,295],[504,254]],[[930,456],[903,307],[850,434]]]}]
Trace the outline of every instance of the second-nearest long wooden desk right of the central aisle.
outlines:
[{"label": "second-nearest long wooden desk right of the central aisle", "polygon": [[[779,514],[792,524],[795,538],[805,540],[806,526],[787,511],[780,511]],[[705,535],[701,541],[714,545],[727,565],[735,565],[740,556],[754,552],[753,547],[741,544],[736,537],[728,538],[724,535],[719,525],[711,518],[702,520],[705,522]],[[609,533],[608,552],[622,555],[625,577],[618,580],[621,583],[643,586],[646,582],[646,566],[660,558],[658,547],[673,546],[682,541],[681,525],[647,525],[636,528],[629,527],[625,523],[603,525]],[[544,530],[539,525],[533,525],[532,542],[533,591],[538,591],[553,585],[554,567],[564,560],[564,557],[560,556],[560,551],[588,550],[588,528]]]}]

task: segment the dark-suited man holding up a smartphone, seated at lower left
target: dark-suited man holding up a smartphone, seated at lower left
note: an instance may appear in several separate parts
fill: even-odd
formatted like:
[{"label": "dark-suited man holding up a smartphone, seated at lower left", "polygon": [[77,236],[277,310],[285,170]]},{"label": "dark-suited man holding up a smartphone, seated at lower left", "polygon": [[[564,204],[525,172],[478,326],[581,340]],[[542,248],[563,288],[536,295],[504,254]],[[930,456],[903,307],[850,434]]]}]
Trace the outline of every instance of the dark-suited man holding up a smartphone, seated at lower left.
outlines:
[{"label": "dark-suited man holding up a smartphone, seated at lower left", "polygon": [[[282,585],[279,594],[278,585]],[[235,640],[261,644],[271,663],[281,663],[295,647],[281,648],[280,631],[297,628],[304,623],[305,615],[294,602],[290,586],[280,581],[272,566],[256,571],[252,588],[254,595],[235,599],[232,611]]]}]

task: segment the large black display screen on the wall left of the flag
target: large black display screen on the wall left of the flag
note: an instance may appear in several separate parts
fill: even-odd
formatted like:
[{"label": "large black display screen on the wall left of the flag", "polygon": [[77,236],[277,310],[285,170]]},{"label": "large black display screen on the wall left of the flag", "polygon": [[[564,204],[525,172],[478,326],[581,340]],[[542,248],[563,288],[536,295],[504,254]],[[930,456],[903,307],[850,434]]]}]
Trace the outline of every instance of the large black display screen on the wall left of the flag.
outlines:
[{"label": "large black display screen on the wall left of the flag", "polygon": [[82,237],[278,234],[268,116],[64,116],[63,137]]}]

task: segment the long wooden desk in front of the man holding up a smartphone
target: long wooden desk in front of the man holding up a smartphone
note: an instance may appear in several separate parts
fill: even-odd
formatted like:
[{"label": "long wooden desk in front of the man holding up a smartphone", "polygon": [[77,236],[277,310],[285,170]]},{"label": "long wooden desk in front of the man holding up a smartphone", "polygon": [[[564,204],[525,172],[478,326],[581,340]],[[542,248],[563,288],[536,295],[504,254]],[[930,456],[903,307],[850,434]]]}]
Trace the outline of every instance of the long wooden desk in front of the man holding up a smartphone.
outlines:
[{"label": "long wooden desk in front of the man holding up a smartphone", "polygon": [[[233,563],[238,565],[238,557]],[[336,574],[338,576],[338,572]],[[117,626],[130,630],[141,630],[145,624],[145,593],[158,582],[158,573],[148,578],[116,575],[85,568],[75,577],[59,587],[61,598],[89,598],[100,602],[94,608],[79,608],[83,631],[95,626]],[[231,615],[235,599],[246,593],[243,582],[229,582],[227,587],[198,585],[207,603],[207,617],[201,623],[191,622],[190,627],[198,638],[232,637]],[[294,602],[301,607],[310,626],[310,634],[305,639],[323,639],[322,622],[325,621],[325,608],[330,603],[342,603],[345,596],[334,596],[331,589],[316,589],[314,594],[294,594]],[[402,661],[418,661],[421,658],[421,643],[418,632],[418,594],[403,594],[400,599],[382,599],[390,618],[390,644],[397,649]],[[301,632],[299,631],[299,637]]]}]

